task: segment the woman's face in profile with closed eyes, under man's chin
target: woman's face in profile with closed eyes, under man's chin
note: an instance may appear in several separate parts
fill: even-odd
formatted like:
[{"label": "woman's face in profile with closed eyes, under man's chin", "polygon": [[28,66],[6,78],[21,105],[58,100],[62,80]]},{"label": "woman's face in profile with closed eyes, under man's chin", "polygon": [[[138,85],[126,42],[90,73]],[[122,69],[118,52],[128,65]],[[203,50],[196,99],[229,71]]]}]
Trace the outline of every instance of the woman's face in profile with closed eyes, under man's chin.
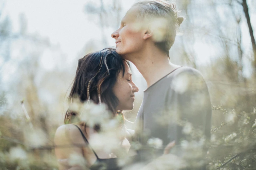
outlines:
[{"label": "woman's face in profile with closed eyes, under man's chin", "polygon": [[125,63],[125,74],[121,70],[118,74],[117,81],[113,87],[113,92],[119,100],[119,105],[116,110],[131,110],[134,105],[134,93],[138,92],[138,87],[131,79],[131,70],[129,65]]}]

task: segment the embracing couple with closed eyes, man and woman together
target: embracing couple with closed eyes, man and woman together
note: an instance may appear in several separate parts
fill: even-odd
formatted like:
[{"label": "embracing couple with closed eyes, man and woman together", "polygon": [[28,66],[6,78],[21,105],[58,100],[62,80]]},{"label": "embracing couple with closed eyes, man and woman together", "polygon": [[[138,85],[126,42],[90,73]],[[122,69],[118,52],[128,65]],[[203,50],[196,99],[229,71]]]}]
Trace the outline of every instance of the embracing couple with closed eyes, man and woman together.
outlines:
[{"label": "embracing couple with closed eyes, man and woman together", "polygon": [[[206,169],[212,116],[208,88],[199,71],[172,64],[169,57],[182,21],[175,5],[167,1],[135,3],[111,34],[116,49],[106,48],[79,59],[70,101],[78,98],[82,103],[104,104],[111,119],[121,118],[117,131],[125,133],[116,133],[120,140],[116,148],[131,159],[120,163],[116,148],[94,148],[95,143],[104,146],[112,140],[111,135],[101,141],[95,136],[113,129],[79,120],[79,114],[69,109],[65,125],[57,129],[54,139],[56,146],[73,146],[56,147],[60,169]],[[147,83],[135,131],[125,129],[122,113],[133,108],[139,91],[129,62]],[[162,148],[147,147],[156,140]],[[130,143],[139,144],[139,149],[130,148]],[[70,163],[74,153],[84,158],[81,164],[86,166]]]}]

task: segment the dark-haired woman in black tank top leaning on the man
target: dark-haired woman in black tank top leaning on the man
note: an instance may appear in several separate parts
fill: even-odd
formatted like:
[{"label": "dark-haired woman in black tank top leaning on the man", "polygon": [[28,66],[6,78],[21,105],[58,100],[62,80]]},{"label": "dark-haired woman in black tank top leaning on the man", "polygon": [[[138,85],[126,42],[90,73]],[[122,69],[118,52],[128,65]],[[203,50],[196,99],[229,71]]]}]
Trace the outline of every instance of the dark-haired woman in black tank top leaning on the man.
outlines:
[{"label": "dark-haired woman in black tank top leaning on the man", "polygon": [[[113,48],[106,48],[79,59],[76,77],[68,98],[71,103],[78,98],[82,103],[105,104],[111,113],[110,118],[113,120],[117,116],[121,118],[120,128],[116,129],[122,132],[124,127],[122,110],[133,109],[135,92],[138,92],[138,87],[132,81],[128,61],[122,59]],[[114,137],[110,136],[100,141],[104,145],[109,140],[116,141],[113,138],[117,136],[120,145],[116,148],[94,148],[94,143],[99,142],[95,136],[103,131],[110,134],[112,130],[109,129],[108,132],[106,128],[102,128],[103,125],[100,123],[92,124],[89,121],[81,121],[79,118],[81,115],[74,109],[66,112],[65,125],[60,126],[55,134],[54,142],[57,146],[55,154],[60,160],[70,159],[72,155],[77,155],[84,158],[85,162],[82,159],[80,165],[69,163],[71,167],[65,167],[60,163],[60,169],[82,169],[85,164],[90,169],[100,169],[103,166],[106,169],[120,169],[117,165],[118,152],[116,150],[123,149],[124,152],[128,152],[130,144],[125,135],[116,133]],[[96,142],[91,143],[91,141]]]}]

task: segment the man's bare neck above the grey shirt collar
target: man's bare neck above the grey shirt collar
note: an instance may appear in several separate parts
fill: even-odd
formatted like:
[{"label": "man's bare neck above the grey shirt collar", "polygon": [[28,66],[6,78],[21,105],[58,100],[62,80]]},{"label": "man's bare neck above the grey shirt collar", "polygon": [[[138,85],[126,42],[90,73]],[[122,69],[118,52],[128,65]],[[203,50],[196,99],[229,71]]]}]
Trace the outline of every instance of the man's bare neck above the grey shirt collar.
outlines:
[{"label": "man's bare neck above the grey shirt collar", "polygon": [[156,48],[146,49],[126,58],[137,67],[145,78],[147,87],[179,67],[179,65],[170,63],[167,54]]}]

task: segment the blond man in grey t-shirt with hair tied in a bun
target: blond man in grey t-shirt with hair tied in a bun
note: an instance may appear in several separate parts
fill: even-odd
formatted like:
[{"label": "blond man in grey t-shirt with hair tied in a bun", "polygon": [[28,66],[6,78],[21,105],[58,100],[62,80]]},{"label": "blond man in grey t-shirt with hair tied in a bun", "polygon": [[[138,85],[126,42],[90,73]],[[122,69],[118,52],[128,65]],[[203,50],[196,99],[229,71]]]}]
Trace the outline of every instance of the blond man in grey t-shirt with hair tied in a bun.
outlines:
[{"label": "blond man in grey t-shirt with hair tied in a bun", "polygon": [[[152,156],[148,141],[161,139],[163,148],[175,141],[171,153],[184,160],[189,169],[205,169],[204,157],[211,130],[211,102],[202,75],[194,68],[169,60],[176,29],[183,21],[175,6],[164,0],[134,4],[111,36],[116,51],[132,62],[147,82],[135,121],[134,138],[142,144],[143,161]],[[150,139],[150,140],[149,140]]]}]

